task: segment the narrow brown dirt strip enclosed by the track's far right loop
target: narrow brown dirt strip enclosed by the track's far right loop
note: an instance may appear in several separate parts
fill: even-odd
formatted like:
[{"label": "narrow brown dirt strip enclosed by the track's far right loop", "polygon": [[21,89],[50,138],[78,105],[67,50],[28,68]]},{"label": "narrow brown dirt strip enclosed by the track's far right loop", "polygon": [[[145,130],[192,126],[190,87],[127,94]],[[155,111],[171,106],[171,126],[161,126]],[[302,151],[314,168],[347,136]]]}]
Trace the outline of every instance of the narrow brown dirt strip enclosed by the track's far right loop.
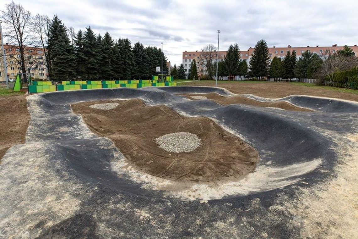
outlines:
[{"label": "narrow brown dirt strip enclosed by the track's far right loop", "polygon": [[209,93],[209,94],[183,94],[184,96],[188,97],[190,100],[198,100],[196,97],[193,96],[204,96],[207,99],[214,100],[221,105],[230,105],[230,104],[246,104],[246,105],[255,105],[260,107],[274,107],[280,108],[284,110],[293,110],[293,111],[312,111],[309,109],[304,109],[301,107],[297,107],[285,101],[277,101],[277,102],[261,102],[257,100],[248,99],[247,97],[234,95],[234,96],[221,96],[216,93]]}]

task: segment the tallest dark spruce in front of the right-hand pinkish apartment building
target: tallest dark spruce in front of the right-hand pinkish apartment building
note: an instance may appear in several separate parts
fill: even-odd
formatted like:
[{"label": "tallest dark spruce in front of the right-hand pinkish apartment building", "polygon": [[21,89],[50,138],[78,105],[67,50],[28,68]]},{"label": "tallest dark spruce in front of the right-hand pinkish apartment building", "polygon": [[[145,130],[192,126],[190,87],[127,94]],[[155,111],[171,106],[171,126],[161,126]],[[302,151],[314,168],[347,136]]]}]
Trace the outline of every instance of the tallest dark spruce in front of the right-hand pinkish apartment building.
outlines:
[{"label": "tallest dark spruce in front of the right-hand pinkish apartment building", "polygon": [[267,70],[270,63],[269,60],[269,48],[267,47],[266,41],[261,39],[256,43],[250,59],[251,74],[259,79],[263,76],[267,76]]}]

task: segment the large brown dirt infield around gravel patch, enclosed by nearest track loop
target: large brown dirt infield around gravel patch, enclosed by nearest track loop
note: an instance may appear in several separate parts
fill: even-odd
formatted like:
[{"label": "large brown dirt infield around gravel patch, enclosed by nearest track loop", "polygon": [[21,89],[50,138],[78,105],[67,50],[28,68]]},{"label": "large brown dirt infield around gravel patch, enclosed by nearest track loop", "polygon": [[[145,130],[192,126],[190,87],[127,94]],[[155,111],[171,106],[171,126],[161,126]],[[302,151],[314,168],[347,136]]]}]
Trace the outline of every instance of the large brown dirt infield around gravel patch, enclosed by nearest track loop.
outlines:
[{"label": "large brown dirt infield around gravel patch, enclosed by nearest track loop", "polygon": [[[101,111],[89,105],[118,102],[116,109]],[[185,118],[167,106],[145,106],[139,99],[73,104],[89,128],[113,140],[140,171],[169,180],[221,181],[241,178],[255,169],[257,151],[240,138],[204,117]],[[165,134],[189,132],[200,146],[193,152],[169,153],[155,139]]]}]

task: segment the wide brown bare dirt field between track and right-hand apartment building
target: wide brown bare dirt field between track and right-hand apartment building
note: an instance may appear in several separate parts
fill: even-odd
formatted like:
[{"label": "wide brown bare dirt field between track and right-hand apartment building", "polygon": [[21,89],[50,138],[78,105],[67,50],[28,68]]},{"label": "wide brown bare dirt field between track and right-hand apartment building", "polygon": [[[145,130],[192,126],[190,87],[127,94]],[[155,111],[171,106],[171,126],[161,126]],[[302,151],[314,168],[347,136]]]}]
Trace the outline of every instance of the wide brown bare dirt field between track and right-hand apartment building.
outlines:
[{"label": "wide brown bare dirt field between track and right-hand apartment building", "polygon": [[[215,81],[194,81],[179,85],[215,86]],[[280,98],[289,95],[311,95],[358,101],[358,94],[339,92],[337,90],[308,87],[292,82],[225,82],[218,81],[218,87],[226,88],[235,94],[253,94],[266,98]]]}]

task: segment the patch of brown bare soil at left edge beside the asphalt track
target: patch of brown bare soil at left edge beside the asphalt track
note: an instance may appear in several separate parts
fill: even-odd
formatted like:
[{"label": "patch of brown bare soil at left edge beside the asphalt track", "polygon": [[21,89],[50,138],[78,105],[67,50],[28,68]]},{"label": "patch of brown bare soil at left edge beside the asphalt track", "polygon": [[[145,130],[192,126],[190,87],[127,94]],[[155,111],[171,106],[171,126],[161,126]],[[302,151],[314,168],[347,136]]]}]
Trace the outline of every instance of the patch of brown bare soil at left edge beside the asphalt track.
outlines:
[{"label": "patch of brown bare soil at left edge beside the asphalt track", "polygon": [[29,121],[25,95],[0,98],[0,160],[12,145],[25,142]]}]

